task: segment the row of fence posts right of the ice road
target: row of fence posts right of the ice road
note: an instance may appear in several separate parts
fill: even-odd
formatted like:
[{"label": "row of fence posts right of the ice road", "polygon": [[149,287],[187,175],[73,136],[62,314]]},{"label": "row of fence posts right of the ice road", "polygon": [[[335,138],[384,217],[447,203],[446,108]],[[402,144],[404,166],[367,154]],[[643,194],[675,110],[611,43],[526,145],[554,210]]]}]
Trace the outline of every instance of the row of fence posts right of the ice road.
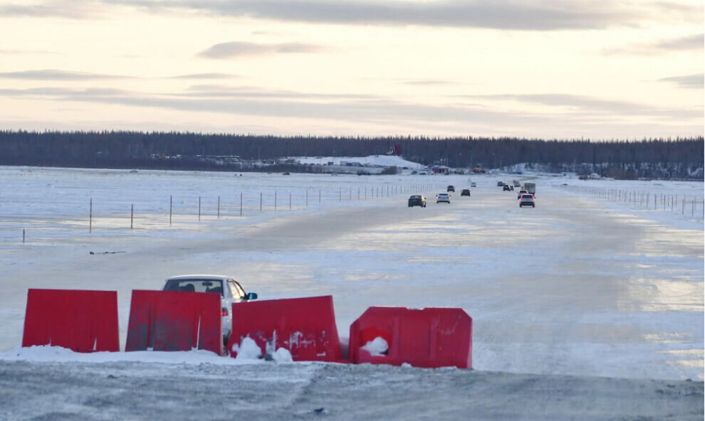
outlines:
[{"label": "row of fence posts right of the ice road", "polygon": [[[640,206],[643,208],[651,209],[652,203],[654,210],[659,208],[659,202],[661,204],[662,210],[669,210],[674,212],[679,208],[679,195],[676,194],[666,194],[666,193],[653,193],[653,201],[651,200],[652,194],[643,191],[626,191],[619,190],[615,188],[601,188],[601,187],[583,187],[583,193],[588,196],[598,197],[607,199],[609,201],[618,201],[622,203],[628,203],[634,206]],[[705,200],[699,199],[697,196],[691,198],[690,201],[687,200],[687,196],[683,195],[681,198],[680,208],[681,214],[685,215],[686,203],[690,204],[691,217],[695,217],[696,205],[703,201],[703,213],[705,218]]]}]

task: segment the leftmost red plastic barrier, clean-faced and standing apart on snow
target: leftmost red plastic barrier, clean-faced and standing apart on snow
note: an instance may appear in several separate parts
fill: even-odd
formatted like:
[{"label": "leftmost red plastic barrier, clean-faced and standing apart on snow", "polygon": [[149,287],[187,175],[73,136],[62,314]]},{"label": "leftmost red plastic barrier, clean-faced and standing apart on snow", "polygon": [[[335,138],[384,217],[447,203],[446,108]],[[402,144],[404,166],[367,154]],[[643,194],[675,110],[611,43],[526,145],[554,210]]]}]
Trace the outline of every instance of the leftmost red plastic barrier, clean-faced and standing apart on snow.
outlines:
[{"label": "leftmost red plastic barrier, clean-faced and standing apart on snow", "polygon": [[120,351],[117,292],[29,289],[22,346]]}]

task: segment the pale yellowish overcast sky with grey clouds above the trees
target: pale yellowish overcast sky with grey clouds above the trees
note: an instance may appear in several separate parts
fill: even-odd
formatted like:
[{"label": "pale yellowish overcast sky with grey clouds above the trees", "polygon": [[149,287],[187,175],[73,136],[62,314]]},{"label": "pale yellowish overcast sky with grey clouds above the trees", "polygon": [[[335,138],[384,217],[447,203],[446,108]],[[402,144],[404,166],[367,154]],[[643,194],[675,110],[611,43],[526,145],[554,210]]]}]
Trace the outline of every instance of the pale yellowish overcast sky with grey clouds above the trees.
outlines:
[{"label": "pale yellowish overcast sky with grey clouds above the trees", "polygon": [[0,0],[0,129],[693,137],[701,0]]}]

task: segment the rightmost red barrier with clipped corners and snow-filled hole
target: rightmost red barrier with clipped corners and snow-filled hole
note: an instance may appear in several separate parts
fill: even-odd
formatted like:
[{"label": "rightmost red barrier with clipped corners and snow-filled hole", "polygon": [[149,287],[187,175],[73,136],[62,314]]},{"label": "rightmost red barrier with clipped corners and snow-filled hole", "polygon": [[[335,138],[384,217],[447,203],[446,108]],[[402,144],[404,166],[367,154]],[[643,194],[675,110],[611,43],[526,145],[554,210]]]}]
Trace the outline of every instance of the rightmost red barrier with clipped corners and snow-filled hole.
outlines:
[{"label": "rightmost red barrier with clipped corners and snow-filled hole", "polygon": [[[386,354],[361,349],[377,337],[387,341]],[[350,326],[350,361],[472,368],[472,319],[463,309],[370,307]]]}]

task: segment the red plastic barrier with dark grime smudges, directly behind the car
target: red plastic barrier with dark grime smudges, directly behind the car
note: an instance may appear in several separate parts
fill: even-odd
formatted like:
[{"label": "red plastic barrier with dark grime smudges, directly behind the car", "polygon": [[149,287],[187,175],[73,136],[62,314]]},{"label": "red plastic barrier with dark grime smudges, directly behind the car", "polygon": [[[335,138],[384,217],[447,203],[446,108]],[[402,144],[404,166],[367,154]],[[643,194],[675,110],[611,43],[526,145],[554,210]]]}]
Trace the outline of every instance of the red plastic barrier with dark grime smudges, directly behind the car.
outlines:
[{"label": "red plastic barrier with dark grime smudges, directly behind the car", "polygon": [[190,351],[220,355],[223,343],[219,294],[132,291],[125,351]]}]

